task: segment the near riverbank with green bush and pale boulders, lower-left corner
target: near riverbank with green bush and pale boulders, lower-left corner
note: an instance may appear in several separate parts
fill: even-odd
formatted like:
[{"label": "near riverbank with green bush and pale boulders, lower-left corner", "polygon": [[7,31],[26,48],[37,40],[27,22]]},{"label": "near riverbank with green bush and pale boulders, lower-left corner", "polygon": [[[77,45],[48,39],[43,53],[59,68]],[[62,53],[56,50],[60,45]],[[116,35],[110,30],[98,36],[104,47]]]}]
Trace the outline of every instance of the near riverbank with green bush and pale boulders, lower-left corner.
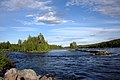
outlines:
[{"label": "near riverbank with green bush and pale boulders, lower-left corner", "polygon": [[32,69],[17,70],[15,62],[8,56],[0,54],[0,80],[57,80],[56,78],[37,75]]}]

